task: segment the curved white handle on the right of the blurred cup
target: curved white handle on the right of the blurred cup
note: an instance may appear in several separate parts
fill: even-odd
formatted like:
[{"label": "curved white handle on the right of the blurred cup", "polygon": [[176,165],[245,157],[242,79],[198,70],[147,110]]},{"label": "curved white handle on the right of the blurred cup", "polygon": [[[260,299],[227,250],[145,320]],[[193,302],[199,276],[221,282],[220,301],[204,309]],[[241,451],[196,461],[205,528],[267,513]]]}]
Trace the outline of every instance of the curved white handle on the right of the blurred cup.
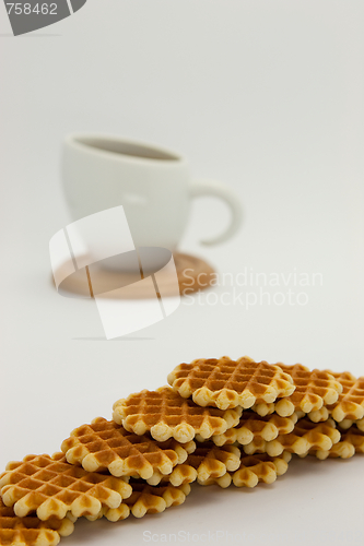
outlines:
[{"label": "curved white handle on the right of the blurred cup", "polygon": [[212,239],[200,241],[202,245],[218,245],[219,242],[223,242],[230,239],[231,237],[233,237],[233,235],[236,234],[242,224],[243,207],[240,205],[238,197],[228,186],[222,182],[218,182],[216,180],[192,180],[190,187],[190,195],[192,198],[199,198],[202,195],[212,195],[215,198],[220,198],[225,201],[232,212],[232,219],[227,229],[221,235],[213,237]]}]

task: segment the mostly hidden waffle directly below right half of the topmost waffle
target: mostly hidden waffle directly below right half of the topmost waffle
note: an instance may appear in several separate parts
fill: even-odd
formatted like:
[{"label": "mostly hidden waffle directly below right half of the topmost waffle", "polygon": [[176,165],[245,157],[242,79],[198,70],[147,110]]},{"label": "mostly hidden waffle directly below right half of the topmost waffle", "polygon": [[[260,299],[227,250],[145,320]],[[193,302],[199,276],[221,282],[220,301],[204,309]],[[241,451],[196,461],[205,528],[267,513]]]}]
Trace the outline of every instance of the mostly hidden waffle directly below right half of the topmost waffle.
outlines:
[{"label": "mostly hidden waffle directly below right half of the topmost waffle", "polygon": [[[213,436],[211,439],[216,446],[225,446],[235,442],[247,446],[255,438],[271,441],[279,435],[292,432],[296,422],[296,414],[290,417],[280,417],[275,414],[261,417],[255,412],[247,410],[243,413],[238,425],[230,428],[223,435]],[[199,437],[197,437],[197,439],[200,440]]]}]

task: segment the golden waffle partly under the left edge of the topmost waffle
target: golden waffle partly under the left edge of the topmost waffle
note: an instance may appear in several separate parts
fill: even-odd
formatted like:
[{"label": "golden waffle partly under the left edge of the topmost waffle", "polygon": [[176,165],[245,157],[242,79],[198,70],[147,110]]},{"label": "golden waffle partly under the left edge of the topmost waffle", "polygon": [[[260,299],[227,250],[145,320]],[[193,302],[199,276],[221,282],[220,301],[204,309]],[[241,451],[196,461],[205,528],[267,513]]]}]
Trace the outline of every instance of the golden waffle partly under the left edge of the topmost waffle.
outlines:
[{"label": "golden waffle partly under the left edge of the topmost waffle", "polygon": [[197,406],[171,387],[141,391],[114,404],[114,420],[137,435],[150,431],[157,441],[173,437],[187,442],[197,434],[202,438],[225,432],[237,425],[242,408],[218,410]]}]

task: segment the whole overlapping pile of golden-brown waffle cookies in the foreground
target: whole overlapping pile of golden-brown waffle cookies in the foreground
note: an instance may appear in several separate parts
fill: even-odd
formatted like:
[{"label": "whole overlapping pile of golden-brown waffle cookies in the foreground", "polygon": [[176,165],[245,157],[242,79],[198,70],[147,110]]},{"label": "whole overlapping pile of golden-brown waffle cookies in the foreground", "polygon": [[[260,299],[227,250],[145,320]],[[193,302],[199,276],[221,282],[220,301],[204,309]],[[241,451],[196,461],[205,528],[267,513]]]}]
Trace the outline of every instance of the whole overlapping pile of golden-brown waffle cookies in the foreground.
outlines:
[{"label": "whole overlapping pile of golden-brown waffle cookies in the foreground", "polygon": [[177,366],[114,404],[54,455],[0,475],[0,546],[50,546],[78,518],[116,522],[183,503],[190,484],[255,487],[293,455],[364,452],[364,378],[243,357]]}]

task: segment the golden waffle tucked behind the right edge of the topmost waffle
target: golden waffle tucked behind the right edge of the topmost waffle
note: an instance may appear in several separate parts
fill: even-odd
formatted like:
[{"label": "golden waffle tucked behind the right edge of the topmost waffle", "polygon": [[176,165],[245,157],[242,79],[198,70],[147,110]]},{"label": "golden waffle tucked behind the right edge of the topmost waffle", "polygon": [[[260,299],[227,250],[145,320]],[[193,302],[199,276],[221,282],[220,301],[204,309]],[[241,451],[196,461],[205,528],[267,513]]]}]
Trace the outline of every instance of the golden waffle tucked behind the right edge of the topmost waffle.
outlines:
[{"label": "golden waffle tucked behind the right edge of the topmost waffle", "polygon": [[301,364],[285,366],[282,363],[278,363],[278,366],[286,373],[290,373],[295,385],[295,391],[291,395],[271,404],[267,404],[267,401],[258,400],[254,410],[259,415],[265,416],[272,412],[278,413],[282,417],[287,417],[294,412],[304,412],[306,414],[317,412],[324,405],[333,404],[338,401],[342,385],[327,370],[310,371]]}]

